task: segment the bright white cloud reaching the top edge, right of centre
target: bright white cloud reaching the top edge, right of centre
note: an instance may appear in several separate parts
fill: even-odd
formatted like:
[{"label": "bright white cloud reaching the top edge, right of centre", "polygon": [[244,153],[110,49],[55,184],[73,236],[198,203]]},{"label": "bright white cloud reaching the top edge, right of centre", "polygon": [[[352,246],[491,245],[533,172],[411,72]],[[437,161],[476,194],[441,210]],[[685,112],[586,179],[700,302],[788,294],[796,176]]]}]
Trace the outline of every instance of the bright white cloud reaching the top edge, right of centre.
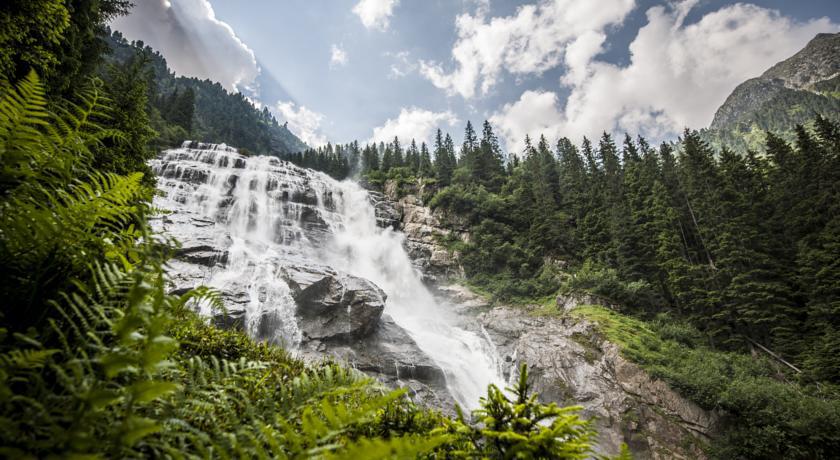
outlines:
[{"label": "bright white cloud reaching the top edge, right of centre", "polygon": [[[487,19],[486,7],[457,17],[458,39],[452,48],[456,69],[447,72],[435,62],[421,62],[420,72],[450,95],[472,98],[477,88],[486,94],[502,70],[523,76],[540,74],[562,63],[566,48],[585,36],[588,47],[600,50],[604,30],[621,23],[634,0],[544,0],[525,5],[508,17]],[[583,51],[580,44],[575,53]]]}]

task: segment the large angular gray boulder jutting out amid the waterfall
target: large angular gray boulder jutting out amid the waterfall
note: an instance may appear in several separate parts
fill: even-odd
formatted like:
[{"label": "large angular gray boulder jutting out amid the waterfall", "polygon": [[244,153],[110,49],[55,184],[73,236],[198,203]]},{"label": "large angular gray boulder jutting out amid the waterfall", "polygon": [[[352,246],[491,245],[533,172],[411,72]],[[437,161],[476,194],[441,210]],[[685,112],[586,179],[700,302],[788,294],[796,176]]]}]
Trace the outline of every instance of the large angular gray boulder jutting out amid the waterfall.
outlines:
[{"label": "large angular gray boulder jutting out amid the waterfall", "polygon": [[347,341],[366,336],[385,309],[385,291],[329,267],[284,267],[282,277],[297,304],[304,340]]}]

